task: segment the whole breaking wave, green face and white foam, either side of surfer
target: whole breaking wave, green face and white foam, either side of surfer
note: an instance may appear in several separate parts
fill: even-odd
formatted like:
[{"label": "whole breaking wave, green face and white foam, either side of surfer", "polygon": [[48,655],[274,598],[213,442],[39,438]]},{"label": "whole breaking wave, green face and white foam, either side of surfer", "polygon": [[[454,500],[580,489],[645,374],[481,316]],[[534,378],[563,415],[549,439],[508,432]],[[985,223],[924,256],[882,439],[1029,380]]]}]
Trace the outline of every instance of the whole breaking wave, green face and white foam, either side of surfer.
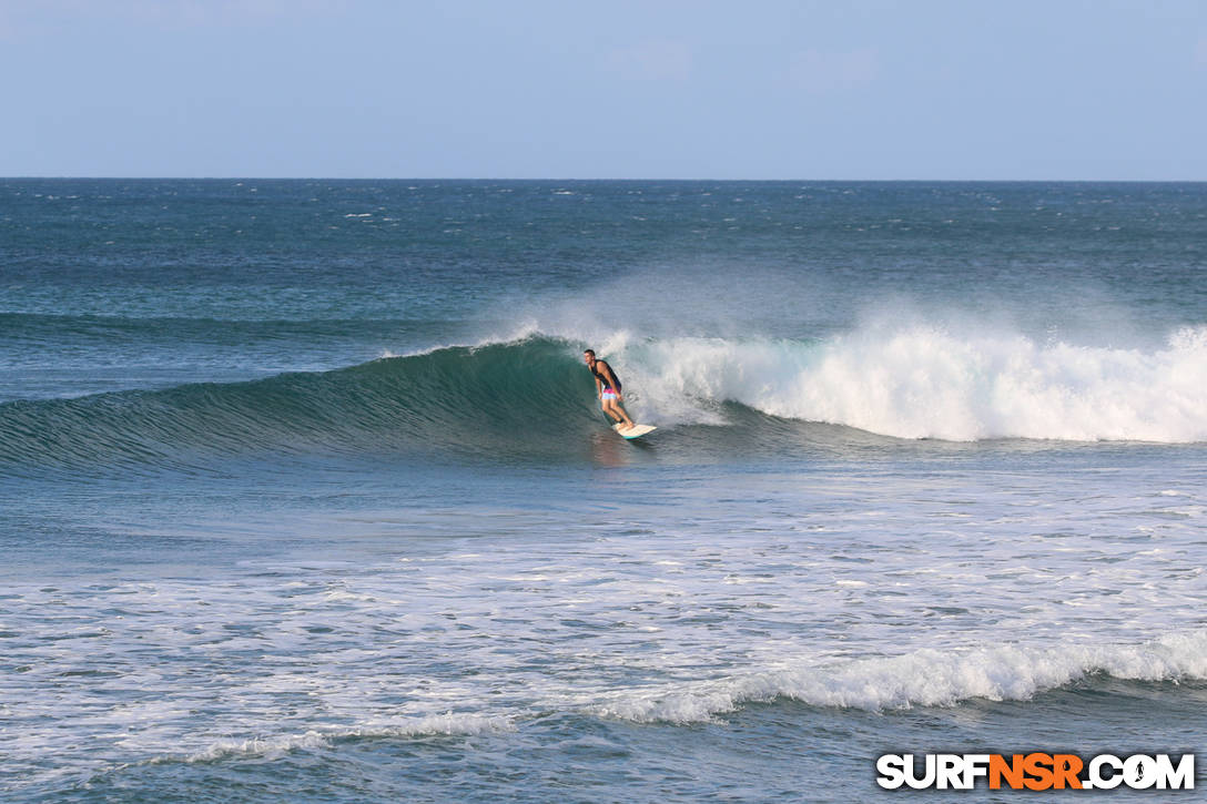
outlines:
[{"label": "whole breaking wave, green face and white foam, either side of surfer", "polygon": [[[893,438],[1207,441],[1207,328],[1151,351],[933,327],[608,345],[635,416],[729,426],[734,449],[817,423]],[[212,455],[418,447],[555,459],[602,431],[579,348],[533,336],[250,383],[11,402],[0,406],[0,461],[191,467]]]}]

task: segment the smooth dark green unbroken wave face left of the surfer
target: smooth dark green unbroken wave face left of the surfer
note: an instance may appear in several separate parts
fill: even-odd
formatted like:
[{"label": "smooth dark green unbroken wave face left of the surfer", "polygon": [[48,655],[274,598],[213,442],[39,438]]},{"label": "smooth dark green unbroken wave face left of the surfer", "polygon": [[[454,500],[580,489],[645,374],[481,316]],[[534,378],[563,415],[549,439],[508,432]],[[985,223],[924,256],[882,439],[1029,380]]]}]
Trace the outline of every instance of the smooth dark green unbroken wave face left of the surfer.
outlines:
[{"label": "smooth dark green unbroken wave face left of the surfer", "polygon": [[365,455],[427,445],[514,453],[591,420],[556,340],[456,346],[331,372],[0,406],[0,464],[203,467],[222,455]]}]

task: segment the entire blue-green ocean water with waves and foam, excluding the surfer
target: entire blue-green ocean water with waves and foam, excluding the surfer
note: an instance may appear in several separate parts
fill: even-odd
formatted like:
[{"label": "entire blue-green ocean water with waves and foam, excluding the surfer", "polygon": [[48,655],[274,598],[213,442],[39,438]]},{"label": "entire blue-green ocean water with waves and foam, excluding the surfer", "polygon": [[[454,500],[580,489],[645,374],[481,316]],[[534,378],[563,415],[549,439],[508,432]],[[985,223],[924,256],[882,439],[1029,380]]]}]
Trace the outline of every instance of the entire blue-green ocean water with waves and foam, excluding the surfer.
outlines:
[{"label": "entire blue-green ocean water with waves and foam, excluding the surfer", "polygon": [[1201,787],[1205,512],[1207,185],[0,181],[6,800]]}]

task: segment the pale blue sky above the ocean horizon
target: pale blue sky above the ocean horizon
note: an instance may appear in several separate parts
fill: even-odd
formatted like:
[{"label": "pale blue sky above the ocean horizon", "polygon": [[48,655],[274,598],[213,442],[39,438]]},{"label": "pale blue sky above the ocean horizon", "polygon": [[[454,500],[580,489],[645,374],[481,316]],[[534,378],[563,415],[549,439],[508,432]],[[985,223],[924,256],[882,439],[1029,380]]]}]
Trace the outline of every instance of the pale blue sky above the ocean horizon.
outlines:
[{"label": "pale blue sky above the ocean horizon", "polygon": [[6,176],[1207,180],[1207,0],[0,0]]}]

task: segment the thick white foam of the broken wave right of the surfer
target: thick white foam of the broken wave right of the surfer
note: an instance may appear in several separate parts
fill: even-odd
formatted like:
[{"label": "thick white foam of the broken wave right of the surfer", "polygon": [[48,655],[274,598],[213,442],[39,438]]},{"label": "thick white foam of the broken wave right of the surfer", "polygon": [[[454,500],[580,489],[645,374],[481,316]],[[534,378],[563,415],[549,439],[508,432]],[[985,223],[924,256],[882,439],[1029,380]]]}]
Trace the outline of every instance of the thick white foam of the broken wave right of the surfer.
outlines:
[{"label": "thick white foam of the broken wave right of the surfer", "polygon": [[612,362],[645,418],[671,423],[717,424],[700,403],[739,402],[898,438],[1207,441],[1207,327],[1149,350],[934,326],[670,338],[626,343]]}]

